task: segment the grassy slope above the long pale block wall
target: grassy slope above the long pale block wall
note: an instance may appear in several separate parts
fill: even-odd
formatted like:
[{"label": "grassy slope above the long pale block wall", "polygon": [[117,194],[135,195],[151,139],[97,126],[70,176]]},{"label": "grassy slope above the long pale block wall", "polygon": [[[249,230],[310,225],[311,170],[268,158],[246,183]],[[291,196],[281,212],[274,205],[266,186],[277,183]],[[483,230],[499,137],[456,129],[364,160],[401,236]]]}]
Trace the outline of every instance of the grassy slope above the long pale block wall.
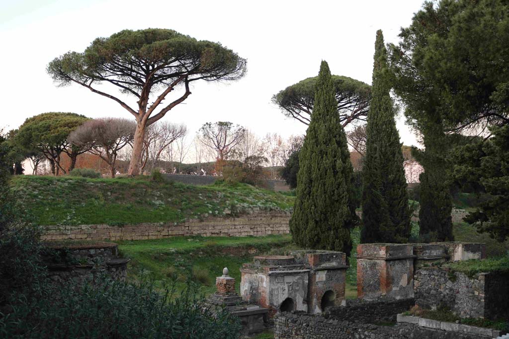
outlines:
[{"label": "grassy slope above the long pale block wall", "polygon": [[148,177],[14,176],[11,188],[39,225],[184,222],[243,210],[290,210],[294,197],[247,184],[190,186]]}]

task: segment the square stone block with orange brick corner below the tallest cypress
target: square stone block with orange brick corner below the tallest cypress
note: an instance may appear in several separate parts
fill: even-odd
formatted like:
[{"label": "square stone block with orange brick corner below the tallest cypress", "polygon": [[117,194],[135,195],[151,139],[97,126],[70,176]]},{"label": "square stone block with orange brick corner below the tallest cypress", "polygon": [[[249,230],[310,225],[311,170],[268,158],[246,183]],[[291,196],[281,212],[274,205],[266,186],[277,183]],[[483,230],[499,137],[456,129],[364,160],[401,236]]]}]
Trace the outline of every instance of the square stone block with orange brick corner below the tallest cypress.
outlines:
[{"label": "square stone block with orange brick corner below the tallest cypress", "polygon": [[414,258],[411,244],[357,245],[357,296],[363,299],[413,297]]}]

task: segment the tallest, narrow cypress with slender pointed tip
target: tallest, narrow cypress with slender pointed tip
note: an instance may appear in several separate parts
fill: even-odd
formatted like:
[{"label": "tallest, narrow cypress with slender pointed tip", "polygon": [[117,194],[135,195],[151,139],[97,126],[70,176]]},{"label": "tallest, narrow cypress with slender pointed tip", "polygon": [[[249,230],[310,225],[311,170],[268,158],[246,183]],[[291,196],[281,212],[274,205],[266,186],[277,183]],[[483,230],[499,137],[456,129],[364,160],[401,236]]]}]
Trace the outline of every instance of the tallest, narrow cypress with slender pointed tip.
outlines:
[{"label": "tallest, narrow cypress with slender pointed tip", "polygon": [[378,30],[362,171],[361,242],[406,242],[410,236],[407,182],[388,75],[387,51]]}]

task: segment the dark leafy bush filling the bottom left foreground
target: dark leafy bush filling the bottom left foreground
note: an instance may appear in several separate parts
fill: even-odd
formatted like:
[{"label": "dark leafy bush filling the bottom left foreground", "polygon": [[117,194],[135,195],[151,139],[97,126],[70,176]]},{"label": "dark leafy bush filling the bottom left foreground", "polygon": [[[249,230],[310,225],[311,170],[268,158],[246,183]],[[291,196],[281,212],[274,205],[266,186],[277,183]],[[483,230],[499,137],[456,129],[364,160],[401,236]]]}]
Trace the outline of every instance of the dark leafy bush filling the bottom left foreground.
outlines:
[{"label": "dark leafy bush filling the bottom left foreground", "polygon": [[172,285],[158,293],[147,281],[129,284],[105,279],[80,288],[69,284],[42,298],[21,296],[12,312],[0,319],[0,336],[238,338],[239,319],[223,309],[205,310],[196,292],[189,286],[176,297]]}]

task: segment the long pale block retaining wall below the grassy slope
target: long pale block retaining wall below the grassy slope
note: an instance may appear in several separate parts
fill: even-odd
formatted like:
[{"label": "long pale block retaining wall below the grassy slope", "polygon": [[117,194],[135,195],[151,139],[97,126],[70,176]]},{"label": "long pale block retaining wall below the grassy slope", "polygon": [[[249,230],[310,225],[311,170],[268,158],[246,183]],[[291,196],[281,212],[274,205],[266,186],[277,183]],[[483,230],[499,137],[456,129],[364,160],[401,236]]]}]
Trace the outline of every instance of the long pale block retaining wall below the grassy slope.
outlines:
[{"label": "long pale block retaining wall below the grassy slope", "polygon": [[239,217],[191,219],[182,224],[144,223],[139,225],[44,226],[42,240],[146,240],[172,236],[246,236],[286,234],[291,214],[281,211],[257,211]]}]

